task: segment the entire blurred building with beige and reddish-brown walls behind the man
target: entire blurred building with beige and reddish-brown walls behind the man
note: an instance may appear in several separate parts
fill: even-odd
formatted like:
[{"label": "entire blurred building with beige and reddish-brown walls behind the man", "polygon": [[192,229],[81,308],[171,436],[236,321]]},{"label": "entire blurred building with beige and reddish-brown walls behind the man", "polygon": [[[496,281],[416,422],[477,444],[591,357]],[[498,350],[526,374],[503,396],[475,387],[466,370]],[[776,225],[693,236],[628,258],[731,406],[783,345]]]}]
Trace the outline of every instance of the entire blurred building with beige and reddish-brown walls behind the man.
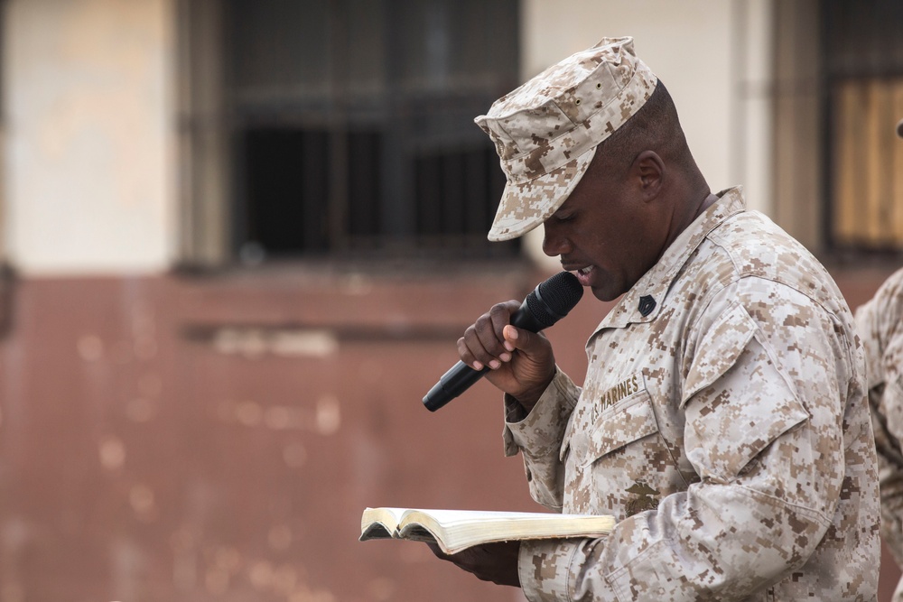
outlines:
[{"label": "entire blurred building with beige and reddish-brown walls behind the man", "polygon": [[0,7],[0,602],[523,599],[359,517],[536,508],[489,384],[421,398],[556,270],[472,119],[602,36],[853,307],[901,263],[896,0]]}]

